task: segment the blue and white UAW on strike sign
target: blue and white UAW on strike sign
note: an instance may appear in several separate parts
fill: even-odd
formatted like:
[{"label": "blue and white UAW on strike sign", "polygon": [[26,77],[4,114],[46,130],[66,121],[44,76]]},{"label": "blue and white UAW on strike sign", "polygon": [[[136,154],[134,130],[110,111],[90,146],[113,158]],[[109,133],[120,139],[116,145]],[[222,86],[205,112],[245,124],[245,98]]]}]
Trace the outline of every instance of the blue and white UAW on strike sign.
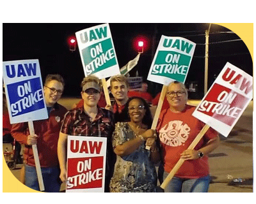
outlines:
[{"label": "blue and white UAW on strike sign", "polygon": [[3,62],[3,78],[11,124],[48,118],[37,59]]}]

